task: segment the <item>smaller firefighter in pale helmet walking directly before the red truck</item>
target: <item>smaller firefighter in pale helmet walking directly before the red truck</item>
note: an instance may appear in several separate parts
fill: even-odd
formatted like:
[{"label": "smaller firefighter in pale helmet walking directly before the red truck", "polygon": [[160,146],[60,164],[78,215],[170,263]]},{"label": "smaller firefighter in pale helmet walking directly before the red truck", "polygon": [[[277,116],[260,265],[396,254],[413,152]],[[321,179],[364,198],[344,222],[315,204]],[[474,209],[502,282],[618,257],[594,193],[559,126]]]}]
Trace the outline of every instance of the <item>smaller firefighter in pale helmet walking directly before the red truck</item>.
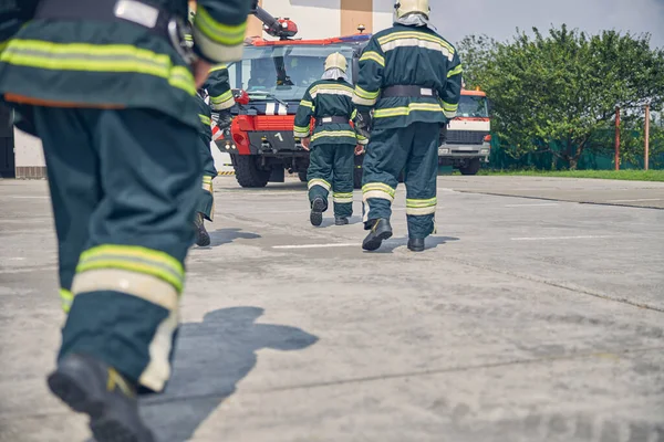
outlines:
[{"label": "smaller firefighter in pale helmet walking directly before the red truck", "polygon": [[[346,59],[335,52],[328,56],[321,80],[309,86],[295,115],[294,136],[311,150],[308,170],[310,221],[321,225],[332,190],[334,223],[345,225],[353,214],[354,151],[366,138],[354,131],[353,86],[346,80]],[[310,137],[310,122],[315,128]]]}]

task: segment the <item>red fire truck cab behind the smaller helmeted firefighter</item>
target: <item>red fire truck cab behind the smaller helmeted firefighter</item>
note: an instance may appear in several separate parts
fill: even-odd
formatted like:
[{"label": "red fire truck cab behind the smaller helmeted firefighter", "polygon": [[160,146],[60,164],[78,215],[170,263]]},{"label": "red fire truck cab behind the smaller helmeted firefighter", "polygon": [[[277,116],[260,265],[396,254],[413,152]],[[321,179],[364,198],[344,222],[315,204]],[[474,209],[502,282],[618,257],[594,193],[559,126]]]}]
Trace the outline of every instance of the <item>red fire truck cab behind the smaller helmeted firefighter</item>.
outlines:
[{"label": "red fire truck cab behind the smaller helmeted firefighter", "polygon": [[284,173],[307,179],[309,152],[295,140],[293,124],[307,88],[320,78],[325,59],[341,52],[349,60],[349,81],[371,35],[325,40],[247,42],[241,61],[228,65],[237,106],[230,137],[217,140],[230,154],[242,187],[283,182]]}]

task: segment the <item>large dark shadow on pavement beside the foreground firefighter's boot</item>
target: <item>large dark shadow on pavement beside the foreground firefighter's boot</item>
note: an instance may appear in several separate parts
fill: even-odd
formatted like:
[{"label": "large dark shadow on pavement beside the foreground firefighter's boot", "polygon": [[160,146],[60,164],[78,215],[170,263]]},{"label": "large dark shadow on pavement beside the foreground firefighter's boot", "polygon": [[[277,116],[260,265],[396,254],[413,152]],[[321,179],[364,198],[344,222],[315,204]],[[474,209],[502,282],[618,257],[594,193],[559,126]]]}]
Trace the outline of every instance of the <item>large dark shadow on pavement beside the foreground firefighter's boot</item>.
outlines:
[{"label": "large dark shadow on pavement beside the foreground firefighter's boot", "polygon": [[300,328],[256,324],[262,313],[258,307],[222,308],[205,315],[203,323],[180,327],[165,392],[141,400],[141,414],[158,442],[188,441],[256,366],[258,350],[301,350],[318,341]]}]

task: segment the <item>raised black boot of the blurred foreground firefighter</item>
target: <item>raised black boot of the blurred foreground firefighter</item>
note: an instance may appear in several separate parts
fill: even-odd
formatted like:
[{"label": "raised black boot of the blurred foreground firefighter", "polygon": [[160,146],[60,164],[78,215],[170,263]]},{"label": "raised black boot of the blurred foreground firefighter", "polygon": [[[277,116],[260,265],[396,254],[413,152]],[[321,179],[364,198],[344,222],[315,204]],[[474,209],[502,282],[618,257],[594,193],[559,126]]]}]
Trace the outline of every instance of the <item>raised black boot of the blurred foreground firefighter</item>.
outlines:
[{"label": "raised black boot of the blurred foreground firefighter", "polygon": [[48,382],[70,408],[90,415],[96,442],[155,442],[138,414],[136,386],[106,364],[90,356],[69,355]]}]

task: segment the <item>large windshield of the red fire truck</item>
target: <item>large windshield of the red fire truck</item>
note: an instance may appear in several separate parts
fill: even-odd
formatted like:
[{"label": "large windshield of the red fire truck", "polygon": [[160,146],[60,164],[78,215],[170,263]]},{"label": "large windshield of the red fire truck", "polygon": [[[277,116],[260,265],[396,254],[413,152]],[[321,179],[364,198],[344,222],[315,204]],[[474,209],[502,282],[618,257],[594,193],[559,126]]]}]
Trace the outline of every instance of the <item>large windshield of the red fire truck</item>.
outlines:
[{"label": "large windshield of the red fire truck", "polygon": [[323,74],[325,59],[341,52],[352,78],[352,48],[340,45],[246,46],[242,61],[228,66],[230,87],[247,91],[252,101],[300,101]]}]

